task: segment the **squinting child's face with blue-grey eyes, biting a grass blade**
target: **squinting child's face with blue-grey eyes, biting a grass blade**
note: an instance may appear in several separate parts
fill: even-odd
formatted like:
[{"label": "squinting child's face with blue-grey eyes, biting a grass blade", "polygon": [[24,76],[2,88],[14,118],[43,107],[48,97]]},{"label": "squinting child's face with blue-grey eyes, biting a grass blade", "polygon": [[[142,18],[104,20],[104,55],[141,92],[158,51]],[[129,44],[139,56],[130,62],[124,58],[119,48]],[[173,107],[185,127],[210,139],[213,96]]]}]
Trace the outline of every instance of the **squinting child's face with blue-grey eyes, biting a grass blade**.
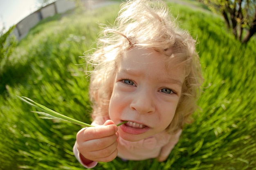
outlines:
[{"label": "squinting child's face with blue-grey eyes, biting a grass blade", "polygon": [[[165,130],[173,120],[184,82],[184,66],[152,49],[132,49],[121,58],[109,104],[119,135],[139,141]],[[169,59],[170,60],[170,59]]]}]

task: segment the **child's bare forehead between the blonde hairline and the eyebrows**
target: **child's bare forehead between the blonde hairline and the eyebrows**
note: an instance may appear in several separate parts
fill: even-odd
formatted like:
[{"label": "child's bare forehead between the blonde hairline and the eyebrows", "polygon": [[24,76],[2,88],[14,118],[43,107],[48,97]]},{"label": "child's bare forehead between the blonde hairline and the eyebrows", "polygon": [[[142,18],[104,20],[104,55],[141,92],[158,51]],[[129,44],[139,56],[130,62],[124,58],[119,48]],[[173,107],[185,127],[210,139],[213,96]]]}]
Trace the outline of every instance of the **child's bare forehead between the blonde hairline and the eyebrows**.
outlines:
[{"label": "child's bare forehead between the blonde hairline and the eyebrows", "polygon": [[175,77],[183,79],[184,66],[175,57],[168,57],[153,49],[134,48],[124,53],[119,64],[119,71],[134,72],[148,77]]}]

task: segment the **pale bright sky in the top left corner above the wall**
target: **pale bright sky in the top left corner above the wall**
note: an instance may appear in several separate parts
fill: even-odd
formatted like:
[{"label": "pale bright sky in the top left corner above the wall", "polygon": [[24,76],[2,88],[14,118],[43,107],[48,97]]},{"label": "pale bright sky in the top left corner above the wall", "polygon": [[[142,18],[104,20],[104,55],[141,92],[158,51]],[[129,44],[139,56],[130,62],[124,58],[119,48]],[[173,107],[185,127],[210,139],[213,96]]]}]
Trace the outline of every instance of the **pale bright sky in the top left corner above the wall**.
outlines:
[{"label": "pale bright sky in the top left corner above the wall", "polygon": [[36,0],[0,0],[0,30],[8,30],[36,9]]}]

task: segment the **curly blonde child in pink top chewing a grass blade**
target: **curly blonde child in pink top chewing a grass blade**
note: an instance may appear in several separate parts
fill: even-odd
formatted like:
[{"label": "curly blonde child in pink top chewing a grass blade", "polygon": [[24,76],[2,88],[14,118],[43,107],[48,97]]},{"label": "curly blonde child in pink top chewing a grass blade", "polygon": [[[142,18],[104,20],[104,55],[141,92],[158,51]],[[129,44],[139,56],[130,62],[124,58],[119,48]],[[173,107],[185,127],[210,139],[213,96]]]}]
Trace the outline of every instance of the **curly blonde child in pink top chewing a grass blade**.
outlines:
[{"label": "curly blonde child in pink top chewing a grass blade", "polygon": [[86,168],[117,156],[166,160],[200,93],[195,40],[175,26],[164,2],[129,0],[115,25],[88,56],[96,127],[81,129],[73,148]]}]

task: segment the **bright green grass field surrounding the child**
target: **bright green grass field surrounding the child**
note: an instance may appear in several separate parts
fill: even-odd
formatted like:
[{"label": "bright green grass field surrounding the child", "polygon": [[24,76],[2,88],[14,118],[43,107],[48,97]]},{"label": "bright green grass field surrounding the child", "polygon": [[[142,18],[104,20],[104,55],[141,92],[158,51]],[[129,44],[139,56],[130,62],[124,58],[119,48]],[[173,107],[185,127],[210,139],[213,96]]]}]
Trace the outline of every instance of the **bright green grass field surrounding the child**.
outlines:
[{"label": "bright green grass field surrounding the child", "polygon": [[[205,82],[201,107],[168,160],[99,163],[96,170],[256,170],[256,38],[240,44],[222,18],[169,4],[180,27],[197,38]],[[48,18],[0,63],[0,169],[82,170],[72,147],[80,126],[31,113],[26,96],[90,123],[83,52],[95,47],[98,23],[112,24],[114,4]],[[89,52],[90,53],[90,52]]]}]

